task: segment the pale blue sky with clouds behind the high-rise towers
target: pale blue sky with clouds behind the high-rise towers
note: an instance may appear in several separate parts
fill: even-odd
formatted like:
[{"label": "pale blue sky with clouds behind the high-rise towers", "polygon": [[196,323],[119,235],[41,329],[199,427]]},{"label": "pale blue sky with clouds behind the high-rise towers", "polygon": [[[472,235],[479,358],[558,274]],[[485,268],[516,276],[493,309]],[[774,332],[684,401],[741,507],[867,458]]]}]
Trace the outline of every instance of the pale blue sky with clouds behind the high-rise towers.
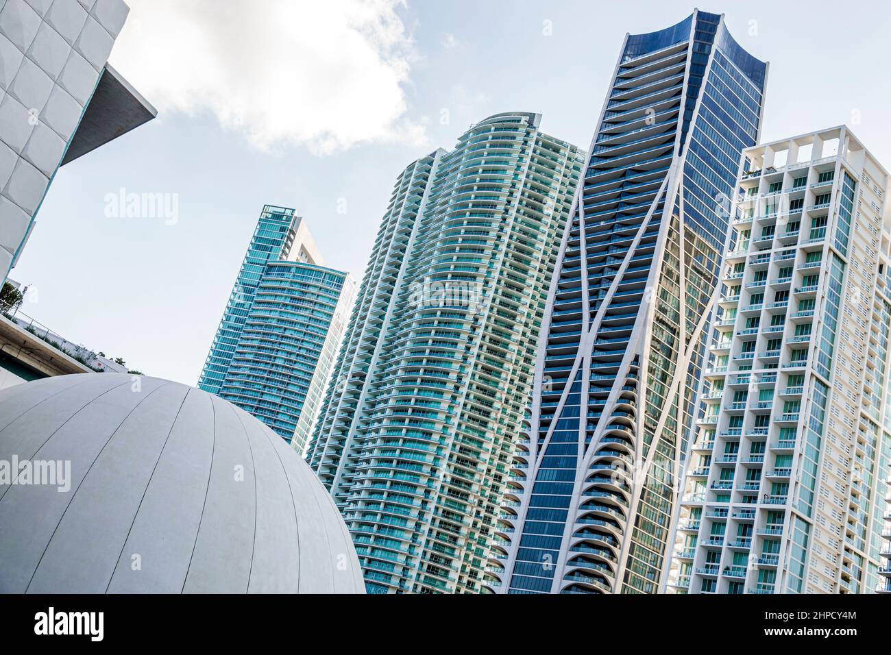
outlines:
[{"label": "pale blue sky with clouds behind the high-rise towers", "polygon": [[[502,111],[586,150],[625,32],[692,4],[127,0],[110,63],[159,117],[61,168],[10,277],[22,310],[195,384],[264,204],[361,279],[399,172]],[[821,6],[824,5],[824,6]],[[703,4],[770,61],[763,140],[846,123],[891,168],[891,8]],[[165,203],[143,216],[124,193]]]}]

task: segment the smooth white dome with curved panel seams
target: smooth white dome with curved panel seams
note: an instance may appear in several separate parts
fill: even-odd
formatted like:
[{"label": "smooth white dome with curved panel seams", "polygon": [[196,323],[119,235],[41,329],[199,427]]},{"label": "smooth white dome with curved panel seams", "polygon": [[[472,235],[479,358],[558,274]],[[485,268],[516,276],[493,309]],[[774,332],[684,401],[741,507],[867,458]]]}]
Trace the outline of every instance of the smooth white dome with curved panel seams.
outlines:
[{"label": "smooth white dome with curved panel seams", "polygon": [[14,482],[0,471],[0,593],[364,594],[313,471],[204,391],[113,373],[5,389],[0,467],[16,462]]}]

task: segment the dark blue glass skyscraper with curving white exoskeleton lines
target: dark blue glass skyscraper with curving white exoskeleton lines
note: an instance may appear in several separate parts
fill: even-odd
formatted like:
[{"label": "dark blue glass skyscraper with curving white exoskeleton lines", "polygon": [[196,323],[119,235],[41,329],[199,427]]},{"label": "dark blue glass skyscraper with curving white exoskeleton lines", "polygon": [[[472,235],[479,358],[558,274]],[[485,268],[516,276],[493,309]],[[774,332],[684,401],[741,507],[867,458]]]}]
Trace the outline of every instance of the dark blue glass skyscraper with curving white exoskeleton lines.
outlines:
[{"label": "dark blue glass skyscraper with curving white exoskeleton lines", "polygon": [[767,65],[723,17],[626,35],[569,219],[484,585],[655,593],[726,207]]}]

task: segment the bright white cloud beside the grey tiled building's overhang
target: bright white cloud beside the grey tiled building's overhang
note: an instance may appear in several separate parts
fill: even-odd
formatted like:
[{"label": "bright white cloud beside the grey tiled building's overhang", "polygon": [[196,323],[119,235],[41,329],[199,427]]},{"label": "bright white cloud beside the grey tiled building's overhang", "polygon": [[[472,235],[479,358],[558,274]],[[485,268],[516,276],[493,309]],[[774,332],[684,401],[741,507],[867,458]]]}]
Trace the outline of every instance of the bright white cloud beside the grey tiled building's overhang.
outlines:
[{"label": "bright white cloud beside the grey tiled building's overhang", "polygon": [[422,143],[402,0],[127,0],[111,64],[159,111],[210,111],[260,150]]}]

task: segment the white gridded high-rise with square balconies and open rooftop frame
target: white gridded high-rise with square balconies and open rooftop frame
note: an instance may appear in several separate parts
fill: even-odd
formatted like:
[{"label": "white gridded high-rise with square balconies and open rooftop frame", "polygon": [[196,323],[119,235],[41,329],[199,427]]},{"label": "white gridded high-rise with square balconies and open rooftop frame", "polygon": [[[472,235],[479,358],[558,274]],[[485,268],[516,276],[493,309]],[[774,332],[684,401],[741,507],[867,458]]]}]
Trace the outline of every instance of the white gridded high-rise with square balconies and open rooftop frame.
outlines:
[{"label": "white gridded high-rise with square balconies and open rooftop frame", "polygon": [[738,188],[668,590],[871,593],[887,566],[887,171],[833,127],[748,149]]}]

